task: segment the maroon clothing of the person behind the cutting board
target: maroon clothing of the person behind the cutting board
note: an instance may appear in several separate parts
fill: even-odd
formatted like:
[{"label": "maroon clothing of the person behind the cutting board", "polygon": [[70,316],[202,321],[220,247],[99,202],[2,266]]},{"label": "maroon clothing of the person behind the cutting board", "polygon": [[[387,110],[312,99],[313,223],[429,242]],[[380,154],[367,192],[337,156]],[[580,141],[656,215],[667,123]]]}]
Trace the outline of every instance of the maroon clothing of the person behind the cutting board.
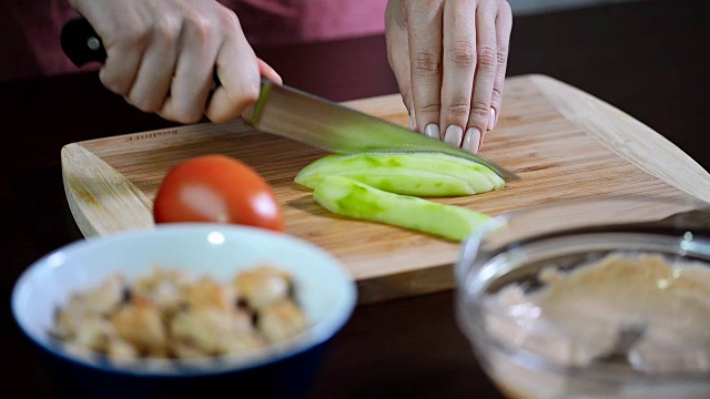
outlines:
[{"label": "maroon clothing of the person behind the cutting board", "polygon": [[[252,44],[334,40],[384,32],[387,0],[219,0],[234,10]],[[74,66],[61,28],[77,12],[68,0],[0,1],[0,81],[95,70]]]}]

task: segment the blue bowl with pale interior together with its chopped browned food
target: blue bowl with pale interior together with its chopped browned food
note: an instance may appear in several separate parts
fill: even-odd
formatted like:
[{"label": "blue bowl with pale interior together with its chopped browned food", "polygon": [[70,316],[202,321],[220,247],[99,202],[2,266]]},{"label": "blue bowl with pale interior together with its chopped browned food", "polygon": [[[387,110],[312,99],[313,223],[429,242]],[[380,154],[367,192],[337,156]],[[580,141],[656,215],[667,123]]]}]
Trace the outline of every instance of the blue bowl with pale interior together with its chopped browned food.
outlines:
[{"label": "blue bowl with pale interior together with its chopped browned food", "polygon": [[355,303],[345,268],[307,242],[185,223],[48,254],[12,311],[68,396],[300,397]]}]

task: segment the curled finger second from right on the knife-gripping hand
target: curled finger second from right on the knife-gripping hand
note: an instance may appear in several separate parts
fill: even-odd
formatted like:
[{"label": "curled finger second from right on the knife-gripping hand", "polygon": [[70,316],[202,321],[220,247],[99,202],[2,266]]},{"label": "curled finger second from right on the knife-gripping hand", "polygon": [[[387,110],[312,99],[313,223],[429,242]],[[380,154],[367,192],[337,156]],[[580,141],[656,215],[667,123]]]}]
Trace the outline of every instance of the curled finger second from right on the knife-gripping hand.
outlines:
[{"label": "curled finger second from right on the knife-gripping hand", "polygon": [[159,115],[182,123],[195,123],[202,119],[205,103],[213,85],[214,60],[220,41],[209,25],[199,19],[183,23],[181,51],[175,73]]}]

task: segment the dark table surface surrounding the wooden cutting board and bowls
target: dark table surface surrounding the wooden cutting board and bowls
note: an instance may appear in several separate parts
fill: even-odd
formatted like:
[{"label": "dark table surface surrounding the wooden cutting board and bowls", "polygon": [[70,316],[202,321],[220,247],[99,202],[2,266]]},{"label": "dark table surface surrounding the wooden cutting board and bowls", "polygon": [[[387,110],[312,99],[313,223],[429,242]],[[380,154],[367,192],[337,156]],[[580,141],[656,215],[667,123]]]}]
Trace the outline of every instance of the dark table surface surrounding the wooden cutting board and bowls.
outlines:
[{"label": "dark table surface surrounding the wooden cutting board and bowls", "polygon": [[[544,73],[570,83],[646,123],[710,170],[710,24],[701,4],[647,0],[515,17],[508,76]],[[284,82],[331,100],[397,92],[383,37],[255,50]],[[64,196],[60,150],[175,124],[130,108],[95,73],[2,83],[0,113],[0,395],[52,397],[39,358],[12,320],[10,293],[29,264],[82,238]],[[500,397],[453,311],[452,291],[358,307],[311,397]]]}]

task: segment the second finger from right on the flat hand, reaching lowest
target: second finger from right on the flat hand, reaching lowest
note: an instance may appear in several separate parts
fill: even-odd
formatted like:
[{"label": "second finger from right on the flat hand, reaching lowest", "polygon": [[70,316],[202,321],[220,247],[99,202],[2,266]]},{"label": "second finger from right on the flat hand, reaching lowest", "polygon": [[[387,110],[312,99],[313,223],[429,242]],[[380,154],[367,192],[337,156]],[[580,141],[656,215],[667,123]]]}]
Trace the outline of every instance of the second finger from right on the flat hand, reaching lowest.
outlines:
[{"label": "second finger from right on the flat hand, reaching lowest", "polygon": [[490,100],[496,80],[497,44],[495,2],[483,1],[476,9],[476,72],[468,124],[462,147],[477,153],[490,120]]}]

